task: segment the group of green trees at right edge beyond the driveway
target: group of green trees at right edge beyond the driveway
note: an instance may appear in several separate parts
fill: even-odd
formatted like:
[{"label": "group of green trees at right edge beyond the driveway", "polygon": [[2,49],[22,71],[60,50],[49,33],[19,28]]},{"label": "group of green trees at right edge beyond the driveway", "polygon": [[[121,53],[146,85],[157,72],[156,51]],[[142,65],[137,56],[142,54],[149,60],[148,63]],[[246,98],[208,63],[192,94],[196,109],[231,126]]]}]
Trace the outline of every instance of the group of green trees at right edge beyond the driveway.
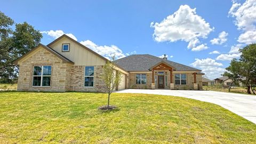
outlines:
[{"label": "group of green trees at right edge beyond the driveway", "polygon": [[229,86],[229,92],[231,85],[236,82],[241,82],[247,87],[247,93],[253,94],[256,87],[256,44],[249,44],[243,49],[240,49],[241,57],[239,59],[233,59],[230,62],[230,66],[226,68],[226,72],[223,76],[229,77],[232,82]]}]

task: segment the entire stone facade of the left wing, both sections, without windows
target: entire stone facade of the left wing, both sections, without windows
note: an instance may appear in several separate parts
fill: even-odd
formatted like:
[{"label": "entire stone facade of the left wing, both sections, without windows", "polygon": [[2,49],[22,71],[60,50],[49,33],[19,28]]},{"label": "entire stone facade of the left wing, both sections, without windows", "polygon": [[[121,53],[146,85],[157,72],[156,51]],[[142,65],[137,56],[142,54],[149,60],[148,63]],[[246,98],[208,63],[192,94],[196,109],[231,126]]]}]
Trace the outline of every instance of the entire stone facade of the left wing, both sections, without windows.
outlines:
[{"label": "entire stone facade of the left wing, both sections, without windows", "polygon": [[[32,86],[34,66],[52,66],[51,86]],[[62,63],[45,49],[41,49],[20,64],[18,91],[90,91],[105,92],[100,78],[103,66],[94,66],[94,86],[84,87],[85,66],[73,66]]]}]

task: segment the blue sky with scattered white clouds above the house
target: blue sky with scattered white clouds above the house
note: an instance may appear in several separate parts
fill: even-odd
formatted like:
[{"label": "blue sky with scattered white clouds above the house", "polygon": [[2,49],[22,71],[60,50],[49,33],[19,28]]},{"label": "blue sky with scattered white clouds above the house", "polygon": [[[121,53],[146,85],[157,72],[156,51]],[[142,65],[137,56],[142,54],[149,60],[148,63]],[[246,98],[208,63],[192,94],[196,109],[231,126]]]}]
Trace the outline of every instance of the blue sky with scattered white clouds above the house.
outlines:
[{"label": "blue sky with scattered white clouds above the house", "polygon": [[[42,31],[43,44],[68,34],[105,57],[167,54],[169,60],[202,69],[213,79],[239,57],[237,48],[256,42],[255,3],[3,1],[0,10]],[[213,51],[218,52],[209,54]]]}]

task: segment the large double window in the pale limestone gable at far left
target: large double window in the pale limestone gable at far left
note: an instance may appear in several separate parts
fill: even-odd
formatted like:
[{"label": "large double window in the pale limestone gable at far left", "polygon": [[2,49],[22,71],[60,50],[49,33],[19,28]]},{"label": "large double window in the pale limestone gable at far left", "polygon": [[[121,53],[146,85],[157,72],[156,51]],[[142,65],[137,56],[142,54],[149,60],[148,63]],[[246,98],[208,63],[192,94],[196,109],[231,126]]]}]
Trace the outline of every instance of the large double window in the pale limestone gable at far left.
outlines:
[{"label": "large double window in the pale limestone gable at far left", "polygon": [[34,66],[33,86],[51,86],[52,66]]}]

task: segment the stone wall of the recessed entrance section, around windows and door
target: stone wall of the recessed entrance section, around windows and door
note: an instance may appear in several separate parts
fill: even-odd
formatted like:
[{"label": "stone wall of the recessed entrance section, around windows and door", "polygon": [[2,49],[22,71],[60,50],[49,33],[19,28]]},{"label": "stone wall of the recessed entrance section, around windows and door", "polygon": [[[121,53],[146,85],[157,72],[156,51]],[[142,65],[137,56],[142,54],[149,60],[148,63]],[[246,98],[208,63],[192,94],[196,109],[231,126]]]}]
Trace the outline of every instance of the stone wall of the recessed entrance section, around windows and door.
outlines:
[{"label": "stone wall of the recessed entrance section, around windows and door", "polygon": [[[170,77],[170,71],[169,70],[155,70],[154,76],[158,76],[159,72],[164,72],[164,78],[165,75],[167,75],[167,86],[164,84],[164,89],[170,89],[170,83],[171,83],[171,77]],[[147,74],[147,84],[146,85],[138,85],[135,84],[135,75],[136,74]],[[187,74],[187,84],[186,85],[175,85],[175,90],[194,90],[194,75],[193,73],[173,73],[173,83],[174,83],[174,74]],[[154,78],[155,79],[155,78]],[[158,79],[158,78],[157,78]],[[158,80],[156,79],[155,89],[157,88]],[[165,80],[164,80],[165,81]],[[202,89],[202,75],[196,76],[196,81],[199,86],[199,89]],[[152,73],[130,73],[129,75],[129,85],[128,89],[151,89],[151,83],[152,83]]]}]

